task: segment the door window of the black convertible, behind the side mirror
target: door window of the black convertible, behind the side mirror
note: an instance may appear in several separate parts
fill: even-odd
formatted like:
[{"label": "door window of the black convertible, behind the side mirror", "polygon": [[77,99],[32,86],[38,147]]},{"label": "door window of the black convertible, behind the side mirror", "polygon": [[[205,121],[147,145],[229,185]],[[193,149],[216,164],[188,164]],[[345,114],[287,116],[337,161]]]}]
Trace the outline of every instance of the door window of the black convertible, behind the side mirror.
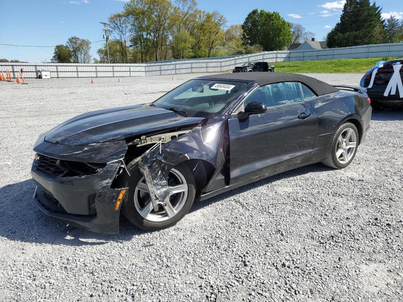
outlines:
[{"label": "door window of the black convertible, behind the side mirror", "polygon": [[257,88],[243,103],[260,102],[266,107],[275,107],[302,102],[302,93],[297,82],[275,83]]}]

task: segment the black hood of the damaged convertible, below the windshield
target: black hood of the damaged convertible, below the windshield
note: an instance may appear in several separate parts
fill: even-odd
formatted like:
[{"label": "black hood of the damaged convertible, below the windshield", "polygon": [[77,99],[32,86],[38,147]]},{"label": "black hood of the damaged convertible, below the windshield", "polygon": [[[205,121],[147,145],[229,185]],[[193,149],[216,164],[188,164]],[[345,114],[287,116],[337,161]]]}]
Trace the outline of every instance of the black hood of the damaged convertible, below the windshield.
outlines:
[{"label": "black hood of the damaged convertible, below the windshield", "polygon": [[78,115],[56,126],[46,134],[45,141],[61,145],[89,145],[198,124],[202,120],[149,105],[103,109]]}]

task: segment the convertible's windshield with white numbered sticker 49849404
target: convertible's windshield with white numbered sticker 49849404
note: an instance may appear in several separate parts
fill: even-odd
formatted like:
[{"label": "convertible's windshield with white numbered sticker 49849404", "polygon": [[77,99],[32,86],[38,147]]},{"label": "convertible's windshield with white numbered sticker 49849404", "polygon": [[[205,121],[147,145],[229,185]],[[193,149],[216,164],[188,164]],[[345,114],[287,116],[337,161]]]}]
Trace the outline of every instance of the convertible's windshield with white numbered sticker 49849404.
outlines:
[{"label": "convertible's windshield with white numbered sticker 49849404", "polygon": [[246,86],[243,82],[191,80],[152,104],[183,116],[213,117],[234,102]]}]

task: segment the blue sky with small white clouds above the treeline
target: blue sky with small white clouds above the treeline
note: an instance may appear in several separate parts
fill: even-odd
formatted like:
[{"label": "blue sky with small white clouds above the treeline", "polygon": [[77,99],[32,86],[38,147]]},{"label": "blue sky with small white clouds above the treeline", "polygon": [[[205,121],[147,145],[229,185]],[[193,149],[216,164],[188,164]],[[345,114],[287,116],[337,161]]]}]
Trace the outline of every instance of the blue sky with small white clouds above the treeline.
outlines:
[{"label": "blue sky with small white clouds above the treeline", "polygon": [[[125,0],[0,0],[2,19],[0,43],[55,46],[66,43],[70,36],[98,41],[102,39],[100,21],[122,11]],[[227,25],[242,23],[255,8],[277,11],[288,21],[301,23],[322,40],[340,17],[344,0],[198,0],[205,11],[218,10]],[[377,0],[384,13],[403,18],[402,0]],[[91,54],[103,42],[93,43]],[[0,45],[0,58],[21,61],[49,61],[53,48],[30,48]]]}]

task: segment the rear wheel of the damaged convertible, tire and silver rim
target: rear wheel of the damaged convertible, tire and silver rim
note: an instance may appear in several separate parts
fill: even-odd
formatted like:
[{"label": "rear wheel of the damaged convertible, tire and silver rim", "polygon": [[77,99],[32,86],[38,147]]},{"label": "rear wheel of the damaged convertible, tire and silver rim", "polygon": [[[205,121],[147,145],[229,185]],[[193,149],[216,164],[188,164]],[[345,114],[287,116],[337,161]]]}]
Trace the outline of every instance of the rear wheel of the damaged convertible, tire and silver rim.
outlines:
[{"label": "rear wheel of the damaged convertible, tire and silver rim", "polygon": [[334,134],[322,163],[334,169],[346,168],[357,153],[358,142],[357,127],[351,123],[342,124]]}]

